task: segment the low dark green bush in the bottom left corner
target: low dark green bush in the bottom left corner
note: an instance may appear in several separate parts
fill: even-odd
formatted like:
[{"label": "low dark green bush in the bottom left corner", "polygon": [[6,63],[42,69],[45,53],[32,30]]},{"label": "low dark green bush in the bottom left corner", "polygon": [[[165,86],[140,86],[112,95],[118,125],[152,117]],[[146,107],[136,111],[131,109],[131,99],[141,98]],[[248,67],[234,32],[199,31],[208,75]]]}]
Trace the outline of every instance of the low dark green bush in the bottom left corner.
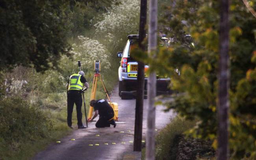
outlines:
[{"label": "low dark green bush in the bottom left corner", "polygon": [[49,136],[51,123],[36,107],[14,97],[5,98],[0,104],[0,157],[6,156],[2,151],[8,148],[17,151],[27,140]]}]

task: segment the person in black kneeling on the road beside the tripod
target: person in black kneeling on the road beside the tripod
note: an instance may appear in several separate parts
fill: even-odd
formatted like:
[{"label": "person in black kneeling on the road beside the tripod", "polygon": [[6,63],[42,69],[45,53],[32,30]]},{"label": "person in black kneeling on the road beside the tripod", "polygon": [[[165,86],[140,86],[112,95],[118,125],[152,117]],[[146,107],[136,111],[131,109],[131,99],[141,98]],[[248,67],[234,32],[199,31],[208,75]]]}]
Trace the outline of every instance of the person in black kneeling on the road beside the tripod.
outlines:
[{"label": "person in black kneeling on the road beside the tripod", "polygon": [[114,121],[114,111],[106,100],[91,100],[90,105],[94,108],[95,113],[89,122],[93,122],[93,119],[100,115],[95,124],[97,128],[110,127],[110,125],[114,125],[115,128],[117,124]]}]

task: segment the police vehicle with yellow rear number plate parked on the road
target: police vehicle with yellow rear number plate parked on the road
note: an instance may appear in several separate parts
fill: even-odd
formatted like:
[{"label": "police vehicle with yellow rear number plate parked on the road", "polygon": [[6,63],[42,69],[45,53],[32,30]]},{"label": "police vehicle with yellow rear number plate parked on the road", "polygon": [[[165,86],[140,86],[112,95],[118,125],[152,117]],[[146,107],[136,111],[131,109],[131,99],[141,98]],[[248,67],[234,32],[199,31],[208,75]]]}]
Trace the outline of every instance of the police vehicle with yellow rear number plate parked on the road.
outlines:
[{"label": "police vehicle with yellow rear number plate parked on the road", "polygon": [[[128,35],[128,40],[124,47],[123,52],[118,52],[117,57],[121,58],[121,64],[118,69],[119,75],[119,96],[122,98],[122,93],[137,90],[137,65],[138,63],[132,56],[130,51],[132,45],[138,43],[139,35]],[[147,71],[148,65],[145,65],[145,71]],[[147,95],[147,76],[145,76],[145,95]],[[171,93],[169,89],[170,78],[156,77],[157,93]]]}]

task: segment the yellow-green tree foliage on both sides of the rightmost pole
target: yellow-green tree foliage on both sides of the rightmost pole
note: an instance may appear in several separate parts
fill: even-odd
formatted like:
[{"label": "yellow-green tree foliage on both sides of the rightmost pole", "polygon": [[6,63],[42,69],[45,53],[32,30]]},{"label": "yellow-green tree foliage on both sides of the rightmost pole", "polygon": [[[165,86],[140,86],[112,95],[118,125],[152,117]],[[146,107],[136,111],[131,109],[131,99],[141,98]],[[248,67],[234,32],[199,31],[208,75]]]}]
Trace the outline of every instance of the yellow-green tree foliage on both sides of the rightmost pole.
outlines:
[{"label": "yellow-green tree foliage on both sides of the rightmost pole", "polygon": [[[250,5],[255,9],[256,1],[250,1]],[[168,48],[160,48],[160,56],[152,62],[155,70],[172,77],[173,89],[180,92],[174,95],[174,102],[170,102],[168,108],[174,108],[188,119],[199,118],[197,127],[188,133],[216,140],[219,2],[176,1],[176,5],[166,7],[164,18],[161,28],[172,42]],[[235,158],[243,157],[245,153],[256,154],[255,28],[256,19],[243,2],[232,1],[229,143]],[[195,47],[184,45],[185,34],[193,37]],[[175,69],[179,69],[180,76]],[[216,146],[214,141],[213,147]]]}]

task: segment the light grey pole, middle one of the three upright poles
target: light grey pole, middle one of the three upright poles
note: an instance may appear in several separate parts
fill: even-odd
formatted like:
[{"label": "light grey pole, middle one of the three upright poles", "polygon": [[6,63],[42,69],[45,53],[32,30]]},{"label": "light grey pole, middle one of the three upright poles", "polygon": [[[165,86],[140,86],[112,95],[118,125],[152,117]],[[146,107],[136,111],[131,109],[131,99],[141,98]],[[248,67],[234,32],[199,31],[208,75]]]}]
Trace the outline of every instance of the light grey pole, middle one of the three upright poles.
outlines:
[{"label": "light grey pole, middle one of the three upright poles", "polygon": [[[148,56],[156,57],[157,51],[157,0],[149,1],[149,27],[148,27]],[[152,64],[150,64],[152,65]],[[151,67],[151,66],[149,66]],[[148,117],[146,136],[146,159],[155,159],[155,117],[156,108],[154,106],[156,97],[156,72],[148,76]]]}]

